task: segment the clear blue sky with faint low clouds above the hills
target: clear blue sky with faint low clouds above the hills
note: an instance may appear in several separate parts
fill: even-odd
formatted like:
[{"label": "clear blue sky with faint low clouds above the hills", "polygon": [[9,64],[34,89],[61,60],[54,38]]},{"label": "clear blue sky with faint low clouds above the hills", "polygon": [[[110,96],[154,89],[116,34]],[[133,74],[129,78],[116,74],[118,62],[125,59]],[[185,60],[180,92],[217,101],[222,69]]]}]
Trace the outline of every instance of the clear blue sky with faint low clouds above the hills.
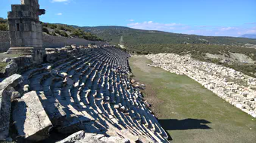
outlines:
[{"label": "clear blue sky with faint low clouds above the hills", "polygon": [[[0,0],[0,17],[11,4]],[[129,26],[166,32],[239,36],[256,34],[256,0],[39,0],[40,20],[77,26]]]}]

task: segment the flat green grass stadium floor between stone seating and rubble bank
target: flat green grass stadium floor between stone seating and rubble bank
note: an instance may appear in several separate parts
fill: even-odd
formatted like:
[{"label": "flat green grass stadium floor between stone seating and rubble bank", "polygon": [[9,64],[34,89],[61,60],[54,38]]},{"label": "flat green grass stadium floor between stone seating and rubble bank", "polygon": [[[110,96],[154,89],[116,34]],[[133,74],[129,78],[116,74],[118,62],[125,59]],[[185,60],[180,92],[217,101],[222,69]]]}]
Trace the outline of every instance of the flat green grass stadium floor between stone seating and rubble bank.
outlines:
[{"label": "flat green grass stadium floor between stone seating and rubble bank", "polygon": [[224,102],[185,75],[147,66],[145,56],[130,58],[136,81],[173,142],[256,142],[256,119]]}]

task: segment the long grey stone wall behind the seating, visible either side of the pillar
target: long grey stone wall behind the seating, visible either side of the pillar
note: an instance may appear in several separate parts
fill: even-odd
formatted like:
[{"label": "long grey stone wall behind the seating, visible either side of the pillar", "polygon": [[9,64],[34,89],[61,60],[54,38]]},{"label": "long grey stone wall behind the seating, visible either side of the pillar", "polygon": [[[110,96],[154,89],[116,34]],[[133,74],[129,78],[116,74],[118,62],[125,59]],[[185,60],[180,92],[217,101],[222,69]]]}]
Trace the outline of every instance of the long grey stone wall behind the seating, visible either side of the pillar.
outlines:
[{"label": "long grey stone wall behind the seating, visible either side of the pillar", "polygon": [[[52,35],[43,35],[43,47],[64,47],[66,44],[88,45],[90,43],[103,44],[99,41],[88,41],[81,38],[65,38]],[[9,32],[0,31],[0,53],[5,52],[10,47]]]}]

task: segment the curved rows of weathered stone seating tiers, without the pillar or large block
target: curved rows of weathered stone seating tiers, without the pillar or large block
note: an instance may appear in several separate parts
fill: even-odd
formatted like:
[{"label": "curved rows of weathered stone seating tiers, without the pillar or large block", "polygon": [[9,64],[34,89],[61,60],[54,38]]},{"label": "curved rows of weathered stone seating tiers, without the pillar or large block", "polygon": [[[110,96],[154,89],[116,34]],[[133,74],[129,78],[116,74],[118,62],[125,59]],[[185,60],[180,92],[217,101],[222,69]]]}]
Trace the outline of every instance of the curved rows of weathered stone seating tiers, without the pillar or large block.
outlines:
[{"label": "curved rows of weathered stone seating tiers, without the pillar or large block", "polygon": [[167,133],[130,82],[128,58],[123,50],[99,47],[25,71],[23,78],[58,132],[108,134],[111,129],[130,141],[167,142]]}]

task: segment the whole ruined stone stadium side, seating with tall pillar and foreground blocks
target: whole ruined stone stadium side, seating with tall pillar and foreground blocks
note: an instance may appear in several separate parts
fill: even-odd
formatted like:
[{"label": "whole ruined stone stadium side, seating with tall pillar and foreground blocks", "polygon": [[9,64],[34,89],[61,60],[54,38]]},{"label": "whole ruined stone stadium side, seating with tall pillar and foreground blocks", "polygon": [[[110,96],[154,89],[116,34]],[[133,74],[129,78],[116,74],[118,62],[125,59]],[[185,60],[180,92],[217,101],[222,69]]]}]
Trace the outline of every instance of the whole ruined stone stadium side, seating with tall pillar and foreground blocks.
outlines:
[{"label": "whole ruined stone stadium side, seating with tall pillar and foreground blocks", "polygon": [[38,0],[11,7],[7,53],[21,56],[4,59],[8,65],[0,84],[0,140],[170,140],[141,86],[131,80],[128,53],[107,44],[45,49],[39,23],[45,10],[39,9]]}]

